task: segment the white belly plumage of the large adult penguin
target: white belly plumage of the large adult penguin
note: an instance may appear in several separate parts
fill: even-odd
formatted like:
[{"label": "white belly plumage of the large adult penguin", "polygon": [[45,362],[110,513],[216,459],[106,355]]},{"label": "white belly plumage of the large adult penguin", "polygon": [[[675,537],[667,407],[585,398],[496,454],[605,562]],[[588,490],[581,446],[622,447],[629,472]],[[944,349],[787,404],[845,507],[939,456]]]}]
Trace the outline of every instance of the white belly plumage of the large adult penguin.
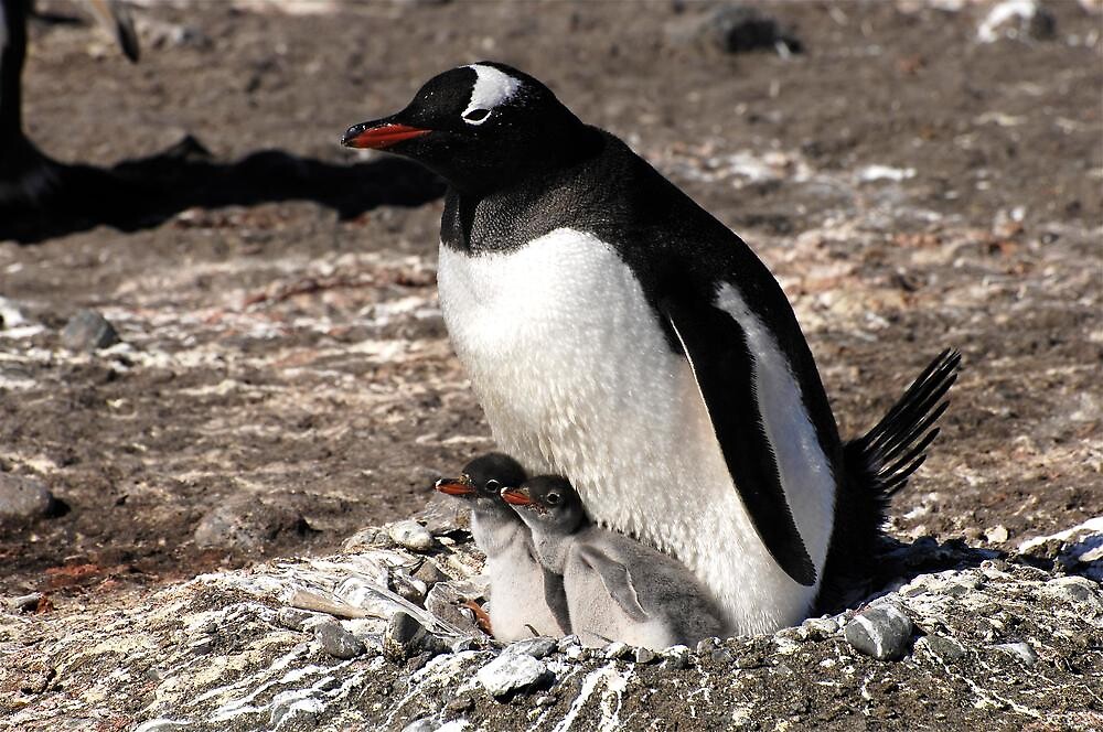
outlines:
[{"label": "white belly plumage of the large adult penguin", "polygon": [[[610,245],[556,229],[502,254],[442,246],[438,286],[452,344],[505,452],[570,480],[600,524],[681,559],[715,594],[731,632],[769,632],[806,615],[816,588],[790,579],[762,545],[688,363],[671,351]],[[811,424],[790,421],[804,438],[797,448],[807,444]],[[834,484],[824,465],[813,467],[782,482],[818,578]]]}]

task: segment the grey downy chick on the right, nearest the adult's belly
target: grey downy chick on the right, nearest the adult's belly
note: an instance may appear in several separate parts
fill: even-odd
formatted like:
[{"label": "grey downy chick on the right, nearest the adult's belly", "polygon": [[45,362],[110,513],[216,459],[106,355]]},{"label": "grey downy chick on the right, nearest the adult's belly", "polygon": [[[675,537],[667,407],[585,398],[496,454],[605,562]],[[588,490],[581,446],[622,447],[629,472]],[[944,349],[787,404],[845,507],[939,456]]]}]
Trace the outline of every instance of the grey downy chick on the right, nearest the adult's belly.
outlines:
[{"label": "grey downy chick on the right, nearest the adult's belly", "polygon": [[693,572],[590,523],[565,478],[540,475],[504,488],[502,497],[533,530],[540,563],[563,575],[570,627],[586,645],[667,648],[724,632],[721,613]]}]

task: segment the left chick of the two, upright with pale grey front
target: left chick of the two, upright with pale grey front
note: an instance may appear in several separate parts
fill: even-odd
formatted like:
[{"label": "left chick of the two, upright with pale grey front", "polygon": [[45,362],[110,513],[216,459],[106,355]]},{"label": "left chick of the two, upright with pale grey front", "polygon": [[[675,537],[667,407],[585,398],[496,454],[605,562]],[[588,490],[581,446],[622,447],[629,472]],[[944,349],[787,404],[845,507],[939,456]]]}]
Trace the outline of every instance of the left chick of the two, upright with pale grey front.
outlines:
[{"label": "left chick of the two, upright with pale grey front", "polygon": [[471,504],[471,534],[486,555],[491,627],[494,637],[505,642],[570,633],[563,578],[537,562],[528,528],[500,495],[524,480],[525,471],[515,460],[490,453],[468,463],[459,478],[436,485]]}]

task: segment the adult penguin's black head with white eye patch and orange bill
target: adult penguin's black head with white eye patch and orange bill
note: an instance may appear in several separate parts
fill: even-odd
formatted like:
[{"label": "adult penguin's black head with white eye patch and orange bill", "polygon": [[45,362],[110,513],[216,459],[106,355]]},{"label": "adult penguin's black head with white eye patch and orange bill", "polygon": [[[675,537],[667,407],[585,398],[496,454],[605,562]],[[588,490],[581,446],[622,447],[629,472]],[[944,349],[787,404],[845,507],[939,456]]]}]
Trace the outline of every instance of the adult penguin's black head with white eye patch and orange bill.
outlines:
[{"label": "adult penguin's black head with white eye patch and orange bill", "polygon": [[405,155],[486,193],[563,160],[588,129],[537,79],[484,61],[432,77],[405,109],[350,127],[341,143]]}]

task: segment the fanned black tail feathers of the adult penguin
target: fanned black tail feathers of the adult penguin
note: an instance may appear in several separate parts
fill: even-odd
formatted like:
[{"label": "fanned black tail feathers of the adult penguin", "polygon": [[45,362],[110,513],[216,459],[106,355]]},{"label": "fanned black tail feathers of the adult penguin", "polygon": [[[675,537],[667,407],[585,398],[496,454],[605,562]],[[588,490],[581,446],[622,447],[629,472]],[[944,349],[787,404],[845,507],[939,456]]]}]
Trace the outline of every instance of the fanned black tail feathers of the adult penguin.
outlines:
[{"label": "fanned black tail feathers of the adult penguin", "polygon": [[[847,477],[872,500],[880,519],[939,437],[934,423],[950,406],[944,397],[957,380],[961,360],[956,349],[943,351],[871,430],[843,445]],[[877,523],[879,526],[880,520]]]}]

